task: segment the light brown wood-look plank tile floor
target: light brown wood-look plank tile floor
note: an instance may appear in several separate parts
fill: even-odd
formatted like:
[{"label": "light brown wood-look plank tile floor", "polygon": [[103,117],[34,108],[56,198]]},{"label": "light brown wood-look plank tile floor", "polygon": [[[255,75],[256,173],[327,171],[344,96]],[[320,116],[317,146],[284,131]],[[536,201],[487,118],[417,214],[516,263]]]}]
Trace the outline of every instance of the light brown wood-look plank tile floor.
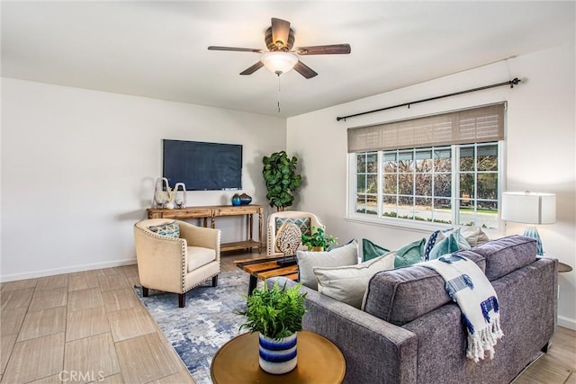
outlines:
[{"label": "light brown wood-look plank tile floor", "polygon": [[[221,269],[251,256],[224,255]],[[0,382],[194,383],[134,285],[136,265],[3,283]],[[549,352],[515,380],[527,383],[576,384],[575,331],[558,327]]]}]

